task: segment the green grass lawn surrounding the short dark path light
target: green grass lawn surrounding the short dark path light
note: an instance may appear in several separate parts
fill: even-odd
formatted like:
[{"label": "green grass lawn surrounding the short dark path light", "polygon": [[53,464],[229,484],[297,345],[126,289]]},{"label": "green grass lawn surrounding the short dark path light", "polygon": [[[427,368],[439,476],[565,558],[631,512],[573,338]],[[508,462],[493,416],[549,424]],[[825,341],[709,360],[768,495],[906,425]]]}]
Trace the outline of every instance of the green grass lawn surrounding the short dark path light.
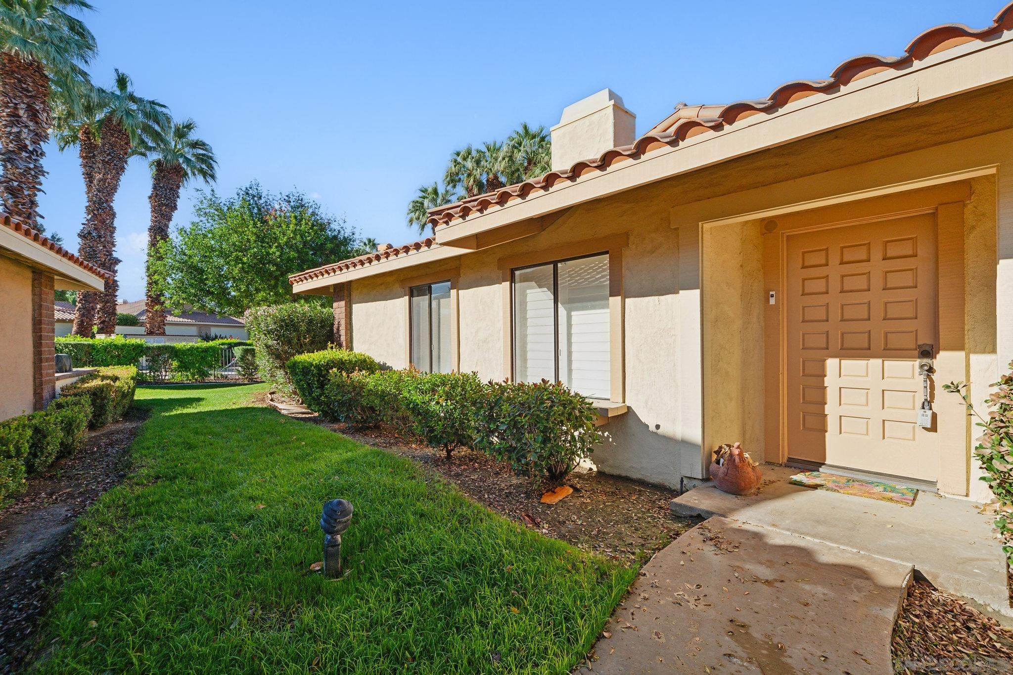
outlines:
[{"label": "green grass lawn surrounding the short dark path light", "polygon": [[[263,389],[138,390],[134,473],[82,518],[37,668],[561,673],[591,648],[634,570],[253,406]],[[334,497],[356,511],[330,581],[308,570]]]}]

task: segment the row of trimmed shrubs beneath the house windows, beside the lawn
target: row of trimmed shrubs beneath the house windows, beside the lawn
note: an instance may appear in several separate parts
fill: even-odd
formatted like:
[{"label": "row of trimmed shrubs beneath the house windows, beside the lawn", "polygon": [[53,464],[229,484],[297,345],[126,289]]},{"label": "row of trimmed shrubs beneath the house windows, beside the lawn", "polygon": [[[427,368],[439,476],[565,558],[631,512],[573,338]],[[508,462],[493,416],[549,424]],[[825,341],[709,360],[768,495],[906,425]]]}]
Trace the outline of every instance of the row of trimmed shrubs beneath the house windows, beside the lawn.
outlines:
[{"label": "row of trimmed shrubs beneath the house windows, beside the lawn", "polygon": [[473,372],[335,365],[362,356],[328,350],[294,358],[289,368],[307,406],[325,419],[350,429],[386,425],[448,459],[458,447],[471,447],[509,462],[519,476],[559,482],[601,441],[595,407],[561,384],[483,384]]}]

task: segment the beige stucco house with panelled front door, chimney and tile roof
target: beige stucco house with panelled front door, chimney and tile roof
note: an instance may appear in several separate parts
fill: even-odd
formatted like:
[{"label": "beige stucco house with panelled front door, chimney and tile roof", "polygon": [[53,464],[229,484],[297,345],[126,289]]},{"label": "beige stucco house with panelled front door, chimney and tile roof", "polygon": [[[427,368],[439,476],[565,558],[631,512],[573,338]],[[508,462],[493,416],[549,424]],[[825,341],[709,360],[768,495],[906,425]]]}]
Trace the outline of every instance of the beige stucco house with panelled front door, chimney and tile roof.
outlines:
[{"label": "beige stucco house with panelled front door, chimney and tile roof", "polygon": [[604,472],[676,487],[742,441],[981,498],[978,433],[942,385],[982,401],[1013,359],[1011,30],[1010,9],[939,26],[767,98],[679,104],[639,139],[599,92],[552,129],[550,173],[290,281],[391,366],[594,399]]}]

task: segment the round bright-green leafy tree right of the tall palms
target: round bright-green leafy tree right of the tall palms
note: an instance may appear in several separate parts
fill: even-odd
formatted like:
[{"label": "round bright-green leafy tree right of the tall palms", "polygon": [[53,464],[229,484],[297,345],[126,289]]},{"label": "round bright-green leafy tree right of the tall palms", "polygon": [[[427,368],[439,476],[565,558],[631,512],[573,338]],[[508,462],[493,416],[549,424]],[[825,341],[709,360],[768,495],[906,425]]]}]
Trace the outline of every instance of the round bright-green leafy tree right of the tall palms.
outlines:
[{"label": "round bright-green leafy tree right of the tall palms", "polygon": [[193,222],[151,260],[153,287],[166,307],[240,316],[263,305],[323,302],[294,297],[289,275],[349,258],[359,241],[302,192],[275,195],[254,181],[232,197],[199,195]]}]

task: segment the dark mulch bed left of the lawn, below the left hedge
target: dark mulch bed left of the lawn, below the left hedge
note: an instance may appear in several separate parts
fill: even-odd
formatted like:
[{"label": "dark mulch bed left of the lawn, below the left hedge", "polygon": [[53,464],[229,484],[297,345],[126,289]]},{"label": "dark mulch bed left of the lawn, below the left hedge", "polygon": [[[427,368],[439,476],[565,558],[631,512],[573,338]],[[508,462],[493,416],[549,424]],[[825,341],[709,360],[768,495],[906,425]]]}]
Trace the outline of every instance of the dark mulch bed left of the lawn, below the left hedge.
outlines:
[{"label": "dark mulch bed left of the lawn, below the left hedge", "polygon": [[74,523],[127,476],[125,451],[143,421],[132,410],[90,432],[81,451],[29,478],[27,489],[0,510],[0,673],[15,672],[28,655],[51,591],[68,568]]}]

